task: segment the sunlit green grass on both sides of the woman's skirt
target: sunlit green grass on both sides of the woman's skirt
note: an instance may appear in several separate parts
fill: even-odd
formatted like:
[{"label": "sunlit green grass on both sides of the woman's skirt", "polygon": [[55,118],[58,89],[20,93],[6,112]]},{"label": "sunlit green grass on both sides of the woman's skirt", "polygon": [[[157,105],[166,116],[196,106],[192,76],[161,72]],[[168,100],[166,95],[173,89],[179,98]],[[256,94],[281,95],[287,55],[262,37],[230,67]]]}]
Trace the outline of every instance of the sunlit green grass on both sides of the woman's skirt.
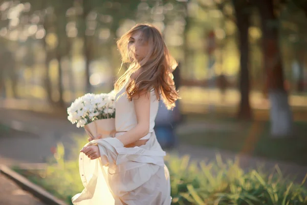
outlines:
[{"label": "sunlit green grass on both sides of the woman's skirt", "polygon": [[[85,141],[84,141],[85,143]],[[79,150],[76,148],[76,150]],[[77,152],[77,151],[76,151]],[[78,157],[64,161],[64,148],[58,145],[56,164],[45,171],[18,171],[60,199],[71,203],[71,197],[83,189],[79,177]],[[307,204],[307,190],[273,173],[251,170],[244,172],[237,162],[223,162],[220,156],[205,163],[191,161],[188,156],[166,156],[170,172],[172,204],[176,205],[292,205]]]}]

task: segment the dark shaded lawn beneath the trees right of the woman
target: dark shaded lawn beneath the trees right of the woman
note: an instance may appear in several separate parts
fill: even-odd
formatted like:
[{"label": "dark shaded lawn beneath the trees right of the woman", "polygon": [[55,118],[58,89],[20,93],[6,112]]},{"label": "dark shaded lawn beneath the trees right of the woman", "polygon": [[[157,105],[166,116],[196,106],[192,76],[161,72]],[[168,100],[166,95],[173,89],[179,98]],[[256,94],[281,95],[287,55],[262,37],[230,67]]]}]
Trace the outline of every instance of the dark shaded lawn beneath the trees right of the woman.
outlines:
[{"label": "dark shaded lawn beneath the trees right of the woman", "polygon": [[[295,122],[295,134],[288,138],[272,138],[270,123],[262,120],[238,121],[232,117],[188,116],[187,121],[212,123],[221,129],[180,134],[181,143],[265,157],[307,165],[307,123]],[[227,128],[226,128],[227,127]],[[225,128],[225,129],[224,129]]]}]

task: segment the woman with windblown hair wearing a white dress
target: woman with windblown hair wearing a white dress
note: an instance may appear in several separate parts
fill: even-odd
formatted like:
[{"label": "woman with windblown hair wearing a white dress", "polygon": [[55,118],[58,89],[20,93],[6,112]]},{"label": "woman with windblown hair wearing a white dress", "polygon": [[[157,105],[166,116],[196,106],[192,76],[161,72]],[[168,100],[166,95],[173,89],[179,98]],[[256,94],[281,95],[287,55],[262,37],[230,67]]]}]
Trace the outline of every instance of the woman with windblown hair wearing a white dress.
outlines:
[{"label": "woman with windblown hair wearing a white dress", "polygon": [[115,83],[117,133],[114,138],[95,139],[82,148],[91,160],[100,157],[101,166],[87,178],[89,182],[80,173],[85,189],[73,197],[73,203],[169,205],[165,152],[153,127],[159,100],[171,109],[179,98],[172,79],[177,63],[160,31],[151,25],[136,25],[117,46],[123,63],[129,64]]}]

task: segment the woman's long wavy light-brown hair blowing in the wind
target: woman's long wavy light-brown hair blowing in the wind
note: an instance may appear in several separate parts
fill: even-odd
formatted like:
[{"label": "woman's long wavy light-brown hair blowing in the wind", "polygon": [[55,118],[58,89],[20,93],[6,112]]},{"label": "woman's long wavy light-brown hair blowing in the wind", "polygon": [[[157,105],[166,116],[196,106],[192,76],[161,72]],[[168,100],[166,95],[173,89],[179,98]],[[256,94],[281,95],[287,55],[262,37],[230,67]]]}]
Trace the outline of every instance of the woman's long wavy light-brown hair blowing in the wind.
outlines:
[{"label": "woman's long wavy light-brown hair blowing in the wind", "polygon": [[[135,58],[133,49],[127,48],[129,37],[139,31],[141,39],[149,47],[148,54],[141,60]],[[155,26],[138,24],[118,39],[117,47],[122,57],[122,66],[128,64],[129,67],[116,81],[115,90],[119,91],[126,85],[126,94],[131,101],[142,92],[153,89],[158,100],[162,97],[168,109],[174,108],[175,101],[180,97],[174,85],[172,71],[178,63],[169,54],[161,32]],[[131,78],[134,73],[137,77]]]}]

